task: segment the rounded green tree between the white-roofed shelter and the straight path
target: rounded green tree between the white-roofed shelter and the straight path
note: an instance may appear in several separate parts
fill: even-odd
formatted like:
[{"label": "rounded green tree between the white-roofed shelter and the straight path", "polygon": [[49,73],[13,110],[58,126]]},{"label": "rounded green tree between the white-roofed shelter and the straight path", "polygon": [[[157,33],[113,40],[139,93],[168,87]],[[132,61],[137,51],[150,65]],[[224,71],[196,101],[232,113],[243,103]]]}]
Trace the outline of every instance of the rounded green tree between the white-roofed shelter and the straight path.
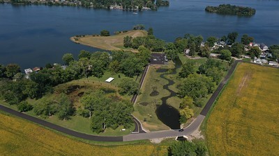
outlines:
[{"label": "rounded green tree between the white-roofed shelter and the straight path", "polygon": [[119,83],[119,93],[133,95],[139,92],[139,84],[131,78],[123,78]]}]

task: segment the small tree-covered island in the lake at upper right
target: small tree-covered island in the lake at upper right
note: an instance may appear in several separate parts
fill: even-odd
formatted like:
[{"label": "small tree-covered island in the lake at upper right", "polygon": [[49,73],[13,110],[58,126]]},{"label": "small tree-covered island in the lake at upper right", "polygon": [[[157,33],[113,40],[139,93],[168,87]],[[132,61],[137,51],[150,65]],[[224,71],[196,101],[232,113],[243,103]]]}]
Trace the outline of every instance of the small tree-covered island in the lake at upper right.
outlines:
[{"label": "small tree-covered island in the lake at upper right", "polygon": [[206,12],[216,12],[220,15],[237,15],[237,16],[252,16],[255,15],[254,8],[243,6],[232,6],[230,4],[221,4],[219,6],[206,6]]}]

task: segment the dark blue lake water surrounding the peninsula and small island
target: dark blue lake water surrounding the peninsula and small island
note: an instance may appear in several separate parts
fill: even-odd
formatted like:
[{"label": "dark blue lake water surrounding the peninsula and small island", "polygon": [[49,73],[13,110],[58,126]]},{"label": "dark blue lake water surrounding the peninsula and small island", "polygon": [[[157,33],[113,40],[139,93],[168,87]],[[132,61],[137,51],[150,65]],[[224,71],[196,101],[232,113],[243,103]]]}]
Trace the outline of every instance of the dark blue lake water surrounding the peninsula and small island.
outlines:
[{"label": "dark blue lake water surrounding the peninsula and small island", "polygon": [[[230,3],[256,8],[252,17],[210,14],[206,6]],[[129,30],[135,24],[153,27],[154,35],[168,42],[185,33],[221,37],[232,31],[248,33],[255,42],[279,44],[279,1],[210,0],[170,1],[158,11],[133,14],[122,10],[98,10],[68,6],[12,6],[0,4],[0,64],[17,63],[22,69],[60,62],[63,53],[77,57],[80,50],[98,51],[74,44],[73,35]],[[240,40],[240,37],[239,37]]]}]

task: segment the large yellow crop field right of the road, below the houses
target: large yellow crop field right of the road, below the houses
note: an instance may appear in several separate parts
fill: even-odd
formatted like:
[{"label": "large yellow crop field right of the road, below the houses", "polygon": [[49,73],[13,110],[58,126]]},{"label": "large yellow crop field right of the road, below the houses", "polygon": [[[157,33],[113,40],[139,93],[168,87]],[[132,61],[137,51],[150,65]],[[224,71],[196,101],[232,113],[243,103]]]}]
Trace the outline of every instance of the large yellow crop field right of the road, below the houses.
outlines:
[{"label": "large yellow crop field right of the road, below the houses", "polygon": [[279,69],[241,63],[206,123],[210,155],[279,154]]}]

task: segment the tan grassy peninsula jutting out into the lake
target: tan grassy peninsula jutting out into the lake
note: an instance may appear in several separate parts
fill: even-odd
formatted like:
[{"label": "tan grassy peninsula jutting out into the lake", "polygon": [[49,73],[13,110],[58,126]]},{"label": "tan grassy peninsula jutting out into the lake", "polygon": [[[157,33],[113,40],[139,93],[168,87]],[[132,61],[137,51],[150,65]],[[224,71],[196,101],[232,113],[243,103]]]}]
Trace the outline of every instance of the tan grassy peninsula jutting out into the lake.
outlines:
[{"label": "tan grassy peninsula jutting out into the lake", "polygon": [[85,37],[78,37],[78,40],[75,40],[76,37],[71,37],[75,43],[84,44],[86,46],[93,46],[98,49],[103,49],[107,51],[112,50],[130,50],[136,51],[135,49],[127,49],[123,46],[123,38],[126,36],[132,37],[143,37],[146,36],[147,32],[142,30],[137,31],[128,31],[126,33],[120,33],[119,35],[112,35],[112,36],[92,36],[86,35]]}]

